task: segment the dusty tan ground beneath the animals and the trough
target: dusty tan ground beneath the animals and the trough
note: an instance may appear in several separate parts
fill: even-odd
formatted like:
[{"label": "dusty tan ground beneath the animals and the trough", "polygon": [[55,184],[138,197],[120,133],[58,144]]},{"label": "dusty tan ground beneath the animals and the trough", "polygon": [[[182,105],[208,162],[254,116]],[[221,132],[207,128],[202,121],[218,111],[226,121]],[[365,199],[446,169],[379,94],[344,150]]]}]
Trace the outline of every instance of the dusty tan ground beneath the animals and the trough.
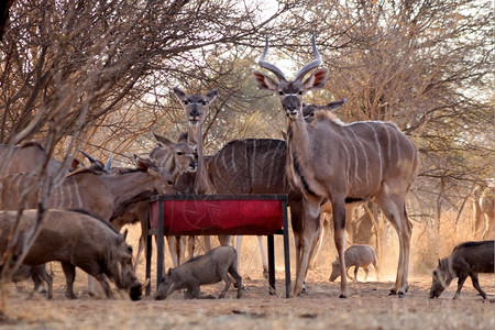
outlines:
[{"label": "dusty tan ground beneath the animals and the trough", "polygon": [[[131,238],[130,241],[136,239]],[[246,239],[246,238],[245,238]],[[251,239],[251,238],[249,238]],[[255,241],[255,240],[254,240]],[[248,292],[235,299],[231,288],[223,300],[184,300],[176,294],[165,301],[144,297],[141,301],[124,298],[108,300],[87,295],[86,276],[79,272],[75,292],[77,300],[64,298],[65,279],[59,266],[54,265],[54,299],[41,296],[26,300],[32,284],[25,282],[11,286],[6,300],[7,319],[0,321],[1,329],[495,329],[495,304],[483,301],[468,280],[459,300],[452,300],[455,283],[440,299],[428,298],[430,276],[411,276],[410,290],[406,298],[389,297],[393,285],[391,276],[375,282],[352,283],[350,297],[339,299],[340,283],[328,282],[329,265],[320,264],[310,271],[307,278],[307,295],[285,299],[282,257],[277,260],[277,295],[270,296],[267,280],[263,278],[257,261],[256,244],[248,240],[241,273]],[[246,241],[244,241],[246,242]],[[253,248],[254,246],[254,248]],[[166,261],[167,262],[167,261]],[[168,266],[168,265],[166,265]],[[155,270],[152,270],[153,292]],[[144,263],[140,263],[140,278],[144,278]],[[361,275],[362,276],[362,275]],[[294,279],[294,272],[293,272]],[[495,277],[482,275],[481,285],[495,298]],[[218,295],[222,285],[204,287],[207,294]]]}]

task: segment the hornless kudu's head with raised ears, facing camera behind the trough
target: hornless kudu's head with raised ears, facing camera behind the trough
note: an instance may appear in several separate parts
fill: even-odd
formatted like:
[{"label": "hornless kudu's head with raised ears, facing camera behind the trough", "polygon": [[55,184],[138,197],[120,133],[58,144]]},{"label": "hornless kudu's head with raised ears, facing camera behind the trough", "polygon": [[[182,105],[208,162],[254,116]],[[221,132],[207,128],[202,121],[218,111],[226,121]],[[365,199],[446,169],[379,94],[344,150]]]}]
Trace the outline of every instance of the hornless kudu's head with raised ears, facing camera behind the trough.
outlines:
[{"label": "hornless kudu's head with raised ears, facing camera behind the trough", "polygon": [[205,112],[217,98],[218,92],[213,89],[206,96],[186,95],[178,87],[174,87],[174,94],[186,110],[186,120],[189,127],[195,127],[205,122]]}]

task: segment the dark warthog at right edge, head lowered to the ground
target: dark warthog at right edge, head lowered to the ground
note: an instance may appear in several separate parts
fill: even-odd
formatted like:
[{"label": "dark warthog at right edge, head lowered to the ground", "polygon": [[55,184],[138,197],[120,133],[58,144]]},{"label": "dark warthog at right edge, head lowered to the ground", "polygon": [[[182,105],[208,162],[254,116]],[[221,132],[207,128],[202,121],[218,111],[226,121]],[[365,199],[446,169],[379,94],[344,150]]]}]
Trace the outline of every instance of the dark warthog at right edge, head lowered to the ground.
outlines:
[{"label": "dark warthog at right edge, head lowered to the ground", "polygon": [[440,297],[455,277],[459,277],[459,280],[458,290],[453,298],[459,298],[462,286],[470,276],[474,288],[483,299],[486,299],[486,294],[477,279],[479,273],[494,273],[494,241],[461,243],[454,248],[448,257],[439,260],[438,267],[433,271],[430,298]]}]

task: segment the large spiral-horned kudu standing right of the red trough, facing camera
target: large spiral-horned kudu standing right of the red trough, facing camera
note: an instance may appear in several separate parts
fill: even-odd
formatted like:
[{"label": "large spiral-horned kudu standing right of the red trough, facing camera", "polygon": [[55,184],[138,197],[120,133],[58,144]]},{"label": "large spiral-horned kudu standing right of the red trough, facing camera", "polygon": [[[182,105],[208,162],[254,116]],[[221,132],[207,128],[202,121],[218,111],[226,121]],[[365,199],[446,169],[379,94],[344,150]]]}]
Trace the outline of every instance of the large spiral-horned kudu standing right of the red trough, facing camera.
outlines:
[{"label": "large spiral-horned kudu standing right of the red trough, facing camera", "polygon": [[[400,252],[396,282],[391,294],[404,297],[408,289],[408,263],[411,223],[407,219],[405,198],[419,163],[414,143],[394,124],[363,121],[344,124],[330,111],[318,111],[310,124],[302,116],[302,95],[323,87],[328,69],[316,70],[306,80],[305,76],[321,64],[321,57],[312,38],[316,59],[304,66],[294,80],[285,78],[275,65],[265,61],[268,40],[260,66],[277,77],[272,79],[254,72],[260,89],[278,95],[282,108],[288,118],[287,172],[290,184],[304,194],[304,223],[296,223],[296,284],[294,294],[302,289],[308,268],[310,250],[320,224],[319,210],[322,198],[332,204],[334,242],[339,258],[344,261],[345,201],[374,198],[387,219],[396,229]],[[340,103],[340,105],[339,105]],[[336,102],[332,110],[343,101]],[[341,274],[345,263],[340,263]],[[348,297],[348,282],[341,280],[340,297]]]}]

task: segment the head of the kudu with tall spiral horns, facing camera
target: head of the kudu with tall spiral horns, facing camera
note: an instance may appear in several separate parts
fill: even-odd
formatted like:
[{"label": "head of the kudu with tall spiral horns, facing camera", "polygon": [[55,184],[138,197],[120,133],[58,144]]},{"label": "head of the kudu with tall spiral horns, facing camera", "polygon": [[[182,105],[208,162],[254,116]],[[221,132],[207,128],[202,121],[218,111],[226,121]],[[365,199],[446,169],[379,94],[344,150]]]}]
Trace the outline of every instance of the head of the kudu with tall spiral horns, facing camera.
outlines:
[{"label": "head of the kudu with tall spiral horns, facing camera", "polygon": [[328,69],[318,69],[309,76],[309,78],[302,80],[311,69],[321,64],[321,56],[316,47],[315,35],[312,35],[312,52],[315,53],[316,59],[304,66],[294,80],[288,80],[279,68],[265,61],[267,52],[268,36],[266,36],[265,50],[263,51],[258,63],[261,67],[274,73],[278,78],[278,81],[260,72],[254,72],[253,75],[256,78],[257,87],[260,89],[272,90],[278,95],[285,113],[289,119],[294,120],[298,116],[302,116],[302,95],[308,90],[323,87],[324,81],[327,81]]}]

